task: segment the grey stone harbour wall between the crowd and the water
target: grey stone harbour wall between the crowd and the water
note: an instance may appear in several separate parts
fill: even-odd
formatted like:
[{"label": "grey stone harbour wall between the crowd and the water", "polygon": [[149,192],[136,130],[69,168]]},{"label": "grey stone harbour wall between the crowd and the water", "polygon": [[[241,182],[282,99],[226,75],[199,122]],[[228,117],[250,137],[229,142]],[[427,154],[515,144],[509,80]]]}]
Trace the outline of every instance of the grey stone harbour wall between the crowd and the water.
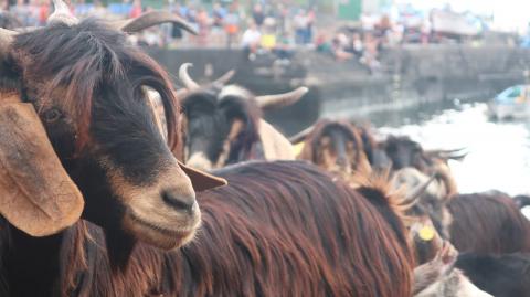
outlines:
[{"label": "grey stone harbour wall between the crowd and the water", "polygon": [[[358,62],[336,62],[312,51],[297,52],[292,63],[268,55],[248,61],[242,51],[149,50],[177,77],[179,66],[193,63],[191,74],[208,82],[231,68],[234,83],[254,93],[271,94],[299,85],[310,92],[298,104],[267,110],[266,118],[287,134],[318,117],[365,117],[420,104],[485,99],[528,81],[530,51],[508,46],[406,46],[381,53],[381,70],[370,74]],[[176,82],[178,84],[178,82]]]}]

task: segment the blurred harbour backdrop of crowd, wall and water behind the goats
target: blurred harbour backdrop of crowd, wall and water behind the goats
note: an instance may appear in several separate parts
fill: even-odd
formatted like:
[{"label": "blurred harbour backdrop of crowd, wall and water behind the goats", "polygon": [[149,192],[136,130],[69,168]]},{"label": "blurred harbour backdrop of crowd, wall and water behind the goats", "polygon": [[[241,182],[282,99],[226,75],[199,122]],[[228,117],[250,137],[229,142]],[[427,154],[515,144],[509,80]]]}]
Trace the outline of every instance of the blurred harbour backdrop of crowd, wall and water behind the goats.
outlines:
[{"label": "blurred harbour backdrop of crowd, wall and water behind the goats", "polygon": [[[44,24],[50,0],[0,1],[2,26]],[[256,94],[306,85],[303,100],[266,118],[294,135],[319,118],[407,135],[425,148],[465,148],[451,166],[462,192],[529,193],[530,2],[516,0],[71,1],[80,18],[163,9],[165,24],[131,36],[177,77]],[[176,79],[176,84],[178,81]]]}]

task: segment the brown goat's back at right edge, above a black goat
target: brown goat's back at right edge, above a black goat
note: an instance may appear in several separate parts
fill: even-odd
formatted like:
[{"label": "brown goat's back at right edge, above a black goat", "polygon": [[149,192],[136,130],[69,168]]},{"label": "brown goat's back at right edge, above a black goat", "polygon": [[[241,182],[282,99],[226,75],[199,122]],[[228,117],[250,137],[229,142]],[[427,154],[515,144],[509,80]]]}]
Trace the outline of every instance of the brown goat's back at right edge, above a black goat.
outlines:
[{"label": "brown goat's back at right edge, above a black goat", "polygon": [[452,243],[460,252],[530,252],[530,222],[515,201],[500,192],[459,194],[451,200]]}]

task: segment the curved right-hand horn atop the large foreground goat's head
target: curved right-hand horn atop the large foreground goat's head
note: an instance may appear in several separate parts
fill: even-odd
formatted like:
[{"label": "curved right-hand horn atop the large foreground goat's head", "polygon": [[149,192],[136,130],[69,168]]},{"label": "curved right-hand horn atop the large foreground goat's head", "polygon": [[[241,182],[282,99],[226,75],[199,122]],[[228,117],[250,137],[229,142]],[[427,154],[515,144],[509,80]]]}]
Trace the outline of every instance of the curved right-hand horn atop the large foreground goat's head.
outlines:
[{"label": "curved right-hand horn atop the large foreground goat's head", "polygon": [[173,23],[177,26],[197,35],[197,31],[193,29],[193,26],[191,26],[191,24],[169,11],[149,11],[136,19],[112,22],[110,25],[127,33],[135,33],[162,23]]}]

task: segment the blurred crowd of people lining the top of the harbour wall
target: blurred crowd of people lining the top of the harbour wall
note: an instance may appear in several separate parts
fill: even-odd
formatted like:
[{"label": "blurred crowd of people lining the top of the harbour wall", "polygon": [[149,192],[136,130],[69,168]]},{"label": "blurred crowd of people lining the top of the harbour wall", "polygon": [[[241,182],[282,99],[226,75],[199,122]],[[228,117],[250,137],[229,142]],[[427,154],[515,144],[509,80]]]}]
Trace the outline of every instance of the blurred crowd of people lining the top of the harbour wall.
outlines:
[{"label": "blurred crowd of people lining the top of the harbour wall", "polygon": [[[9,11],[20,26],[39,26],[46,22],[52,12],[51,0],[18,0],[9,4],[0,0],[2,11]],[[351,26],[337,28],[337,23],[316,28],[317,10],[311,7],[286,6],[284,3],[256,2],[251,7],[213,2],[211,6],[172,2],[165,10],[186,19],[194,26],[198,35],[183,34],[179,28],[163,24],[146,30],[131,39],[145,46],[182,47],[214,46],[243,49],[250,60],[263,53],[272,53],[280,62],[289,62],[295,49],[309,47],[331,55],[337,61],[357,61],[371,73],[380,70],[380,55],[383,47],[403,43],[439,42],[433,34],[431,17],[417,17],[417,13],[403,10],[400,17],[369,14],[361,15]],[[97,15],[106,19],[135,18],[152,10],[141,0],[124,0],[104,6],[100,0],[86,3],[72,1],[74,15],[87,18]],[[451,10],[446,12],[452,13]],[[320,15],[319,15],[320,17]],[[530,47],[529,38],[521,46]]]}]

